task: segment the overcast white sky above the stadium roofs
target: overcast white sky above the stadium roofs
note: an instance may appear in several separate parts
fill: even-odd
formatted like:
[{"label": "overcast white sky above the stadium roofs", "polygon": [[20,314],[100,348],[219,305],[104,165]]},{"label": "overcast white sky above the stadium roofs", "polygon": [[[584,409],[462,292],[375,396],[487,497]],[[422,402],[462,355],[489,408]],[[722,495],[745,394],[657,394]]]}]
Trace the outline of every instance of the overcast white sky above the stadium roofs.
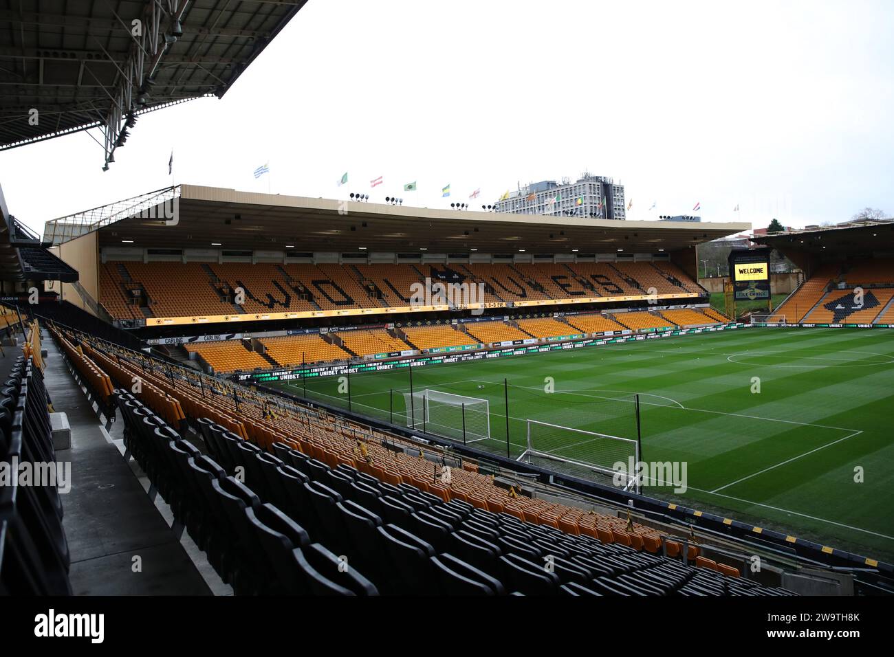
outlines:
[{"label": "overcast white sky above the stadium roofs", "polygon": [[480,206],[587,170],[623,182],[630,219],[892,215],[892,26],[884,0],[311,0],[222,100],[141,116],[108,172],[80,133],[0,153],[0,174],[38,232],[170,185],[172,147],[177,183],[308,197]]}]

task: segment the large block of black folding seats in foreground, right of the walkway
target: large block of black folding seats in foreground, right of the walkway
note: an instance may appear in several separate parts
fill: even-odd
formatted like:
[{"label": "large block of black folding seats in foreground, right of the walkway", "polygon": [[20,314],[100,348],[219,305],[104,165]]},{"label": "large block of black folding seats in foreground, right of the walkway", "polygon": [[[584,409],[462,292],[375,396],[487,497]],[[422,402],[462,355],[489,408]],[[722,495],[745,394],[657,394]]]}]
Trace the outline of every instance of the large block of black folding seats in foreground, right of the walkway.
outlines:
[{"label": "large block of black folding seats in foreground, right of the walkway", "polygon": [[[213,423],[198,424],[209,451],[203,455],[132,395],[117,400],[128,449],[237,594],[782,593],[465,501],[445,502],[349,465],[330,467],[283,443],[262,451]],[[240,473],[244,483],[233,476]],[[58,517],[49,500],[20,506],[39,509],[31,517],[40,522],[30,527],[52,537],[46,518],[58,524]],[[13,544],[2,554],[0,585],[53,590],[57,582],[36,575],[46,554],[30,548],[27,534],[10,541],[10,506],[0,497],[0,535]],[[9,576],[11,560],[18,581]]]}]

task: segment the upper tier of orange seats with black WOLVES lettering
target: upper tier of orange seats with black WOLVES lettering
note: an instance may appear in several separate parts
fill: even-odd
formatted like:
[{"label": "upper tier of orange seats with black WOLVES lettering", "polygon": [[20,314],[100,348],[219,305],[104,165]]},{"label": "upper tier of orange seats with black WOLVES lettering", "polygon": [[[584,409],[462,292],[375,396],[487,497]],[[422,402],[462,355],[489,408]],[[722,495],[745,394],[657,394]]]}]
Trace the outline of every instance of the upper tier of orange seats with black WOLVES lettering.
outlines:
[{"label": "upper tier of orange seats with black WOLVES lettering", "polygon": [[[444,282],[474,288],[468,301],[520,302],[658,293],[703,294],[669,263],[468,264],[423,274],[417,265],[106,262],[99,302],[115,319],[147,316],[228,316],[358,307],[406,307],[420,285]],[[478,284],[484,299],[477,298]],[[131,291],[139,291],[135,303]],[[240,294],[236,294],[240,291]],[[145,296],[145,299],[141,299]]]}]

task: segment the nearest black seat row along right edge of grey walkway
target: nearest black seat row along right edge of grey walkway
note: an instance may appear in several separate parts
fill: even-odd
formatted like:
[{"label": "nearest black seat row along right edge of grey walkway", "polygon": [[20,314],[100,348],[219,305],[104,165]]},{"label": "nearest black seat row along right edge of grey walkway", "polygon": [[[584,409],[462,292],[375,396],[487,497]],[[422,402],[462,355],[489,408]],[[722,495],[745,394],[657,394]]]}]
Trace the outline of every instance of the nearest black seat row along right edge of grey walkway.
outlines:
[{"label": "nearest black seat row along right edge of grey walkway", "polygon": [[[117,391],[127,449],[171,506],[174,521],[206,552],[236,594],[376,594],[342,561],[151,409]],[[241,439],[242,463],[261,452]],[[233,468],[233,474],[234,468]],[[253,482],[254,483],[254,482]],[[257,482],[259,483],[259,482]]]}]

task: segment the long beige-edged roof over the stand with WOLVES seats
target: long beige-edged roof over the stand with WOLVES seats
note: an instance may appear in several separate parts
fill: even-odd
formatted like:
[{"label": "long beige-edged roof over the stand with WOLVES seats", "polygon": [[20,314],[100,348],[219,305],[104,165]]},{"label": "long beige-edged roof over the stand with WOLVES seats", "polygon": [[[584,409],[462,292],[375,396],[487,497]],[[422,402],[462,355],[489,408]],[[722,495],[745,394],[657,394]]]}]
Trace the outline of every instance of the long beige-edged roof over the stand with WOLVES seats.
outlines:
[{"label": "long beige-edged roof over the stand with WOLVES seats", "polygon": [[[172,198],[176,220],[164,219],[172,214]],[[184,184],[49,221],[44,235],[58,244],[98,231],[100,247],[128,240],[136,248],[584,255],[671,252],[748,228],[394,206]]]}]

